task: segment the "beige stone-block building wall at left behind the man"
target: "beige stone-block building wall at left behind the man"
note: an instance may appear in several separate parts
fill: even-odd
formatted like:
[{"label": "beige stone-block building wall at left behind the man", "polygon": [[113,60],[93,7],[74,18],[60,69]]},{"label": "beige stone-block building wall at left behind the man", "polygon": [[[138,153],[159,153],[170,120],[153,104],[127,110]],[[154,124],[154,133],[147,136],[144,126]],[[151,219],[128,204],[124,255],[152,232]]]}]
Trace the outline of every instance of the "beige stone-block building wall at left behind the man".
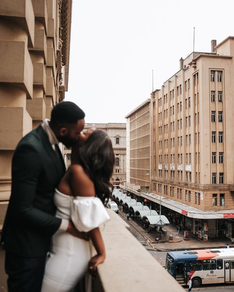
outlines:
[{"label": "beige stone-block building wall at left behind the man", "polygon": [[0,3],[0,224],[19,140],[68,89],[72,0]]}]

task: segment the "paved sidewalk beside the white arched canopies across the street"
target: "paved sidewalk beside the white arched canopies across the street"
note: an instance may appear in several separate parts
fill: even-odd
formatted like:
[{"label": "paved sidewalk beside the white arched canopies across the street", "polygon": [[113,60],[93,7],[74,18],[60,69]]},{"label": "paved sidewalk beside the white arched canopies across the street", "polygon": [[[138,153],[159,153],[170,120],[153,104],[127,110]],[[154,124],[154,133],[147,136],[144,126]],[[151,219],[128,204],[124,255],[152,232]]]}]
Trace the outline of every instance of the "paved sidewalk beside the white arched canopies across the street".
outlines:
[{"label": "paved sidewalk beside the white arched canopies across the street", "polygon": [[[126,220],[125,212],[119,212],[119,215]],[[161,234],[161,241],[159,240],[158,243],[156,243],[156,238],[159,237],[159,233],[148,233],[146,229],[142,227],[141,220],[135,220],[130,217],[127,222],[146,238],[147,243],[152,249],[157,251],[224,248],[227,243],[229,243],[229,246],[232,247],[230,239],[214,238],[209,239],[208,241],[202,241],[194,235],[190,235],[189,240],[184,240],[184,231],[181,231],[181,234],[178,234],[176,225],[173,223],[163,227],[163,230],[166,230],[167,234],[166,236]],[[170,236],[172,236],[173,240],[169,240]]]}]

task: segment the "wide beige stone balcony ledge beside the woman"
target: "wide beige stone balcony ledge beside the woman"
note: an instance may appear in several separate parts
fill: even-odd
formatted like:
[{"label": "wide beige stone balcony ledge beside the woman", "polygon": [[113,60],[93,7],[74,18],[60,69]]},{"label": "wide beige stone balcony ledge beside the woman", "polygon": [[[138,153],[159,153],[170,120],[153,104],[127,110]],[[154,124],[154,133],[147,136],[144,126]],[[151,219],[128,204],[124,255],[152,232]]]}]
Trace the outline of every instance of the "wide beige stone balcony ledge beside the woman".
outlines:
[{"label": "wide beige stone balcony ledge beside the woman", "polygon": [[102,228],[107,257],[98,266],[94,292],[184,291],[129,232],[129,225],[112,210],[108,212],[111,220]]}]

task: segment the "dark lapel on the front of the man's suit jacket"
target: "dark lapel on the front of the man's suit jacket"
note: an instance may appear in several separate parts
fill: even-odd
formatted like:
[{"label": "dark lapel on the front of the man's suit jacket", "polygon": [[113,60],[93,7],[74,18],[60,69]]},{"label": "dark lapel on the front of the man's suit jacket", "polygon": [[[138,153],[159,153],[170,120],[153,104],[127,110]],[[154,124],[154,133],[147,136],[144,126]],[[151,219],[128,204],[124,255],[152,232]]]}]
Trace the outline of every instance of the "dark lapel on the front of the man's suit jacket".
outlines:
[{"label": "dark lapel on the front of the man's suit jacket", "polygon": [[47,134],[45,133],[45,131],[43,130],[41,126],[38,127],[38,132],[39,132],[39,136],[41,138],[41,141],[45,150],[49,154],[50,159],[53,161],[55,168],[58,172],[58,175],[61,177],[65,172],[65,164],[64,164],[61,151],[60,151],[60,157],[58,157],[49,142]]}]

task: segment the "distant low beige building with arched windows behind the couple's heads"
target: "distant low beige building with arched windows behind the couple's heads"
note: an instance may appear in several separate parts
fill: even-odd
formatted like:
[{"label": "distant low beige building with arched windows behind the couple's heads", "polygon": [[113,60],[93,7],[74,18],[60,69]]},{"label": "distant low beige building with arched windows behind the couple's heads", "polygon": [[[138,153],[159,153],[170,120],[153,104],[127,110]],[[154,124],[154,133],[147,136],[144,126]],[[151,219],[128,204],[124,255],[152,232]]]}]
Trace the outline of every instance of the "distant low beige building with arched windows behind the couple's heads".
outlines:
[{"label": "distant low beige building with arched windows behind the couple's heads", "polygon": [[[84,129],[102,129],[112,141],[115,153],[115,167],[113,170],[112,183],[118,185],[126,181],[126,124],[85,124]],[[64,160],[66,166],[71,164],[71,149],[64,147]]]}]

